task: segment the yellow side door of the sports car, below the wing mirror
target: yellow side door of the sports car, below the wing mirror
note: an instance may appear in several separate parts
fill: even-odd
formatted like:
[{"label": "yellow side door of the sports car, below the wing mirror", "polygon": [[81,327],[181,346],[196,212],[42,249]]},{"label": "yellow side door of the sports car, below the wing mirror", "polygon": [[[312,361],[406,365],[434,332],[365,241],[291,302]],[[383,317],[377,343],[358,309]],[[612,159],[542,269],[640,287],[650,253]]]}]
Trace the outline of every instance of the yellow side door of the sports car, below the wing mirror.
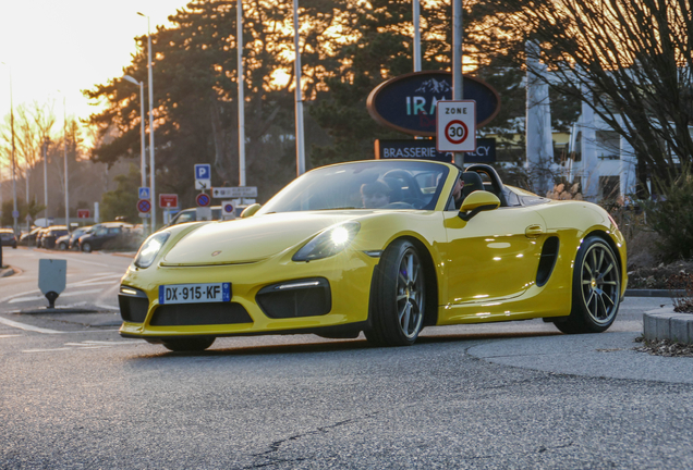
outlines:
[{"label": "yellow side door of the sports car, below the wing mirror", "polygon": [[516,297],[536,282],[546,223],[531,208],[445,213],[450,307]]}]

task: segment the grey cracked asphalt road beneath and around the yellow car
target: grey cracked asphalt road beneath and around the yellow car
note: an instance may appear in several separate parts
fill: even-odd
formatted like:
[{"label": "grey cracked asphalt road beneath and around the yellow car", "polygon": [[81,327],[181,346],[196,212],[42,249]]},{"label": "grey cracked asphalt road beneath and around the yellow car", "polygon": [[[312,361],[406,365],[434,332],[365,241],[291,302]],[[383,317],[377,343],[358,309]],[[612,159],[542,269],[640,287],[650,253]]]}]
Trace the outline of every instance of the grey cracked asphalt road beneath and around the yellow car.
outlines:
[{"label": "grey cracked asphalt road beneath and around the yellow car", "polygon": [[[106,308],[10,304],[33,295],[37,258],[4,255],[26,269],[0,279],[2,469],[693,468],[693,359],[631,349],[668,299],[628,298],[599,335],[527,321],[409,348],[296,335],[186,355],[120,338]],[[66,293],[111,284],[63,307],[112,308],[130,260],[66,256]]]}]

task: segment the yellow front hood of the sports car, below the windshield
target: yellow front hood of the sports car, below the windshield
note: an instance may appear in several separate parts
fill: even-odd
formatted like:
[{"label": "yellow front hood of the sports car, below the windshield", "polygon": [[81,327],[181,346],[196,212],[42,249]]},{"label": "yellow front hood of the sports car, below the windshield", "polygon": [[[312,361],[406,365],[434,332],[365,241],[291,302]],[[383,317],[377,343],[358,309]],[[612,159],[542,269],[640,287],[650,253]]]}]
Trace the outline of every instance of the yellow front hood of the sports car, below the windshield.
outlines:
[{"label": "yellow front hood of the sports car, below the windshield", "polygon": [[336,223],[372,211],[284,212],[200,225],[165,255],[161,265],[241,264],[262,261]]}]

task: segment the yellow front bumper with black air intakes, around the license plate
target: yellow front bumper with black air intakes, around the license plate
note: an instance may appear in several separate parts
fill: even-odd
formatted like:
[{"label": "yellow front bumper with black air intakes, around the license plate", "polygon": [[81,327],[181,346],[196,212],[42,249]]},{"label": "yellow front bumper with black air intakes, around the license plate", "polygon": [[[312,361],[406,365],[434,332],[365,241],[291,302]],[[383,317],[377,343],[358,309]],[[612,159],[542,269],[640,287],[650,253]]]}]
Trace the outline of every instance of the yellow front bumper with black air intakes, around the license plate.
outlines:
[{"label": "yellow front bumper with black air intakes, around the license plate", "polygon": [[[158,339],[355,329],[368,318],[377,262],[377,258],[348,250],[311,262],[267,259],[215,267],[131,267],[122,286],[142,293],[132,296],[141,313],[133,314],[129,301],[124,302],[126,296],[121,295],[120,334]],[[219,282],[231,283],[231,302],[159,304],[159,285]]]}]

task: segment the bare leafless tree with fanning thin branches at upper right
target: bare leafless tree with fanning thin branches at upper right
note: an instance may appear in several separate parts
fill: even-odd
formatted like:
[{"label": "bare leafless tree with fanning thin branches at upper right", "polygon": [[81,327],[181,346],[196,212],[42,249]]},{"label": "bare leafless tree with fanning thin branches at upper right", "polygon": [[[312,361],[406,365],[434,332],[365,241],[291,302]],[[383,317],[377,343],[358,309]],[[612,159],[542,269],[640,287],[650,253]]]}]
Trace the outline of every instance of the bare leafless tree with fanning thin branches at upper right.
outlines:
[{"label": "bare leafless tree with fanning thin branches at upper right", "polygon": [[[633,147],[639,177],[671,177],[693,158],[693,5],[688,0],[490,0],[516,8],[499,15],[496,46],[524,66],[536,53],[552,72],[539,77],[586,102]],[[502,41],[504,42],[502,42]],[[535,40],[536,52],[522,45]],[[530,71],[531,72],[531,71]],[[586,90],[586,92],[585,92]]]}]

